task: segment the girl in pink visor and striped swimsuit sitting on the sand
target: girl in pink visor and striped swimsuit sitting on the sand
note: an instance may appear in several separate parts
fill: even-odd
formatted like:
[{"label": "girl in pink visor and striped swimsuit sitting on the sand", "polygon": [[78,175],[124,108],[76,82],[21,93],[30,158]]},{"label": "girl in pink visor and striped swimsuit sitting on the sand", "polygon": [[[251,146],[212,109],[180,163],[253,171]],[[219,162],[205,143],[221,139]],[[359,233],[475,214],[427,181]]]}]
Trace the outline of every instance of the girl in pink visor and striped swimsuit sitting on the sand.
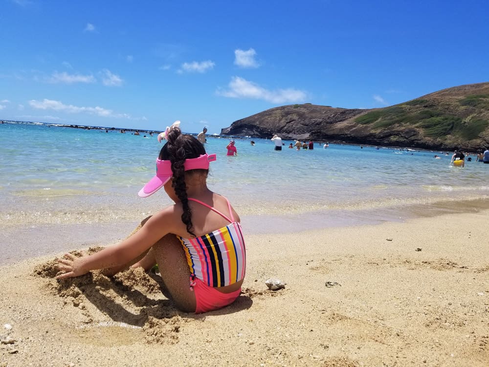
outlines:
[{"label": "girl in pink visor and striped swimsuit sitting on the sand", "polygon": [[172,125],[156,160],[156,176],[140,191],[147,197],[164,187],[175,205],[143,221],[141,229],[119,245],[89,256],[65,254],[59,279],[95,269],[115,274],[127,267],[159,271],[171,298],[185,312],[227,306],[241,292],[246,254],[240,217],[226,198],[206,184],[209,162],[204,146]]}]

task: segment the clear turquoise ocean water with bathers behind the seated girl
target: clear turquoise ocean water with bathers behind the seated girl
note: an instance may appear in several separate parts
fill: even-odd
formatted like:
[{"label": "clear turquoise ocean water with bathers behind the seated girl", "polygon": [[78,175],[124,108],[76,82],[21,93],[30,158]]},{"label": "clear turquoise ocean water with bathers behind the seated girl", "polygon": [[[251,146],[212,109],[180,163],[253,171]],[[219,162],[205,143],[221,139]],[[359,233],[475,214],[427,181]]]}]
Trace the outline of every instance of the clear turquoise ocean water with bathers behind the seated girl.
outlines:
[{"label": "clear turquoise ocean water with bathers behind the seated girl", "polygon": [[[138,221],[171,204],[163,190],[139,198],[155,173],[156,136],[35,124],[0,125],[3,226]],[[446,152],[316,143],[274,151],[272,141],[207,137],[216,153],[209,187],[227,196],[252,230],[402,220],[446,203],[487,202],[489,165],[449,165]],[[433,158],[434,154],[442,157]],[[413,214],[414,215],[414,214]],[[265,219],[264,219],[265,218]],[[285,227],[284,227],[285,226]]]}]

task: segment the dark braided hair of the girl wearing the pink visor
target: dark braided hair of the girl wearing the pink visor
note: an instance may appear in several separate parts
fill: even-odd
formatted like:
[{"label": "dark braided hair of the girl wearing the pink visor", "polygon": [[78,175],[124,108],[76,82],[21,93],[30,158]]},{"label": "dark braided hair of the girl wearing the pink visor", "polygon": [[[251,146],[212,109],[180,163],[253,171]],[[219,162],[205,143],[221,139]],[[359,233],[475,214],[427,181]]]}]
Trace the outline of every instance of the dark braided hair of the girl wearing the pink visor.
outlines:
[{"label": "dark braided hair of the girl wearing the pink visor", "polygon": [[[205,148],[202,143],[191,135],[183,135],[178,127],[172,128],[168,132],[168,142],[161,148],[159,152],[160,160],[169,160],[172,162],[172,187],[175,188],[175,193],[178,196],[183,208],[181,216],[183,224],[187,226],[187,232],[196,237],[192,231],[192,212],[188,206],[187,186],[185,185],[185,168],[183,164],[186,159],[199,158],[205,154]],[[207,169],[195,169],[187,172],[204,172],[207,174]]]}]

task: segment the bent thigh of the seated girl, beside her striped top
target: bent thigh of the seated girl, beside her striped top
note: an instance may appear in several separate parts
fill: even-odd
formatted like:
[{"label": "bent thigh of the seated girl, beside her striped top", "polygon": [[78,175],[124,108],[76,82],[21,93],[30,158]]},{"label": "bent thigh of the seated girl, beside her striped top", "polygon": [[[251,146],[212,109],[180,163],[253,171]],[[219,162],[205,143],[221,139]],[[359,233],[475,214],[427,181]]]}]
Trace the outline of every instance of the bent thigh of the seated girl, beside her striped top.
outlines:
[{"label": "bent thigh of the seated girl, beside her striped top", "polygon": [[190,270],[185,252],[175,234],[167,234],[151,248],[158,264],[161,278],[177,307],[185,312],[195,312],[197,302],[190,289]]}]

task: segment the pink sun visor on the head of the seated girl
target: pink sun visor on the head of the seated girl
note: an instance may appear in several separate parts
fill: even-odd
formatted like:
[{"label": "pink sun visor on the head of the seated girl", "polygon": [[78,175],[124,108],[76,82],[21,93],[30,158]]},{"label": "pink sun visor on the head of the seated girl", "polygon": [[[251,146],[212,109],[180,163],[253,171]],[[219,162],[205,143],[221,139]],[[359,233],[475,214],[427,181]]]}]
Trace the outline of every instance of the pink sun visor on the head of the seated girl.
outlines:
[{"label": "pink sun visor on the head of the seated girl", "polygon": [[[185,171],[191,169],[209,169],[209,162],[215,161],[215,154],[202,154],[199,158],[191,158],[185,160],[183,167]],[[150,182],[144,185],[144,187],[137,193],[142,198],[150,196],[158,191],[164,184],[168,182],[173,176],[172,162],[156,160],[156,176],[153,177]]]}]

